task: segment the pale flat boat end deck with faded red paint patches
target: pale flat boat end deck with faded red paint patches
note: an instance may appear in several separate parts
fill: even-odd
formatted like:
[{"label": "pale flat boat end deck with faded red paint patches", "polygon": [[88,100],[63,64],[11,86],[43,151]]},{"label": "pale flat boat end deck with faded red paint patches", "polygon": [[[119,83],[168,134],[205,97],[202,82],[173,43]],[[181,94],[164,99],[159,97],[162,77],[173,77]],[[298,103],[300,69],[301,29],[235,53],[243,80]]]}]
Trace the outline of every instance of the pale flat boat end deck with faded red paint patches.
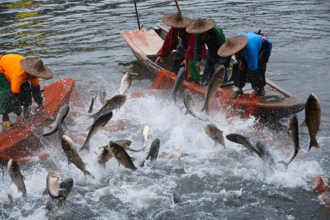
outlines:
[{"label": "pale flat boat end deck with faded red paint patches", "polygon": [[157,54],[164,40],[159,37],[155,30],[141,29],[136,31],[125,31],[126,37],[146,56]]}]

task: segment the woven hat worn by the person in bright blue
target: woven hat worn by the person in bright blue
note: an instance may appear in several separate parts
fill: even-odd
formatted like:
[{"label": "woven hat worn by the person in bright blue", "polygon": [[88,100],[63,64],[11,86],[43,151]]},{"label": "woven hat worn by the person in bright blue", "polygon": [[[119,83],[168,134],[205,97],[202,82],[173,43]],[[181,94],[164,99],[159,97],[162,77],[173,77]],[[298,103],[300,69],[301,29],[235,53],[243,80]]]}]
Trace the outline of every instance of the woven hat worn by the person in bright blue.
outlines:
[{"label": "woven hat worn by the person in bright blue", "polygon": [[218,49],[219,56],[230,56],[241,49],[243,49],[248,44],[248,37],[245,35],[239,35],[234,38],[227,38],[226,42],[221,45]]}]

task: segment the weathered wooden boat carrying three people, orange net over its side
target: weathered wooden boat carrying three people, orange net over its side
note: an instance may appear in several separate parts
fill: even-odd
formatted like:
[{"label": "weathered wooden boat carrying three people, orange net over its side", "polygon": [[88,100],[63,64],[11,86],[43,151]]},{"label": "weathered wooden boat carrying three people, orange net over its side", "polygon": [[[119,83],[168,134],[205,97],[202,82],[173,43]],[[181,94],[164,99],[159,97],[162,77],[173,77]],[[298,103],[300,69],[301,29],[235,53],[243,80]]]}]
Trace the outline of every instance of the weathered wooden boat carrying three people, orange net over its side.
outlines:
[{"label": "weathered wooden boat carrying three people, orange net over its side", "polygon": [[[121,31],[120,34],[125,39],[128,46],[133,51],[137,60],[142,66],[155,77],[150,89],[169,90],[172,89],[176,79],[176,74],[171,73],[172,60],[175,51],[163,58],[163,62],[155,64],[157,51],[162,47],[168,30],[161,25],[156,28],[141,29],[134,31]],[[233,58],[232,58],[233,60]],[[231,69],[227,68],[228,76],[231,76]],[[228,116],[238,115],[248,118],[251,115],[261,119],[281,119],[289,117],[291,114],[302,111],[305,101],[287,92],[280,86],[266,79],[266,94],[264,97],[251,98],[251,84],[247,83],[243,88],[244,94],[239,98],[231,97],[237,90],[232,81],[222,83],[221,91],[217,91],[216,99],[211,102],[211,110],[223,110]],[[193,96],[205,97],[207,90],[184,80],[181,94],[185,89],[189,89]]]}]

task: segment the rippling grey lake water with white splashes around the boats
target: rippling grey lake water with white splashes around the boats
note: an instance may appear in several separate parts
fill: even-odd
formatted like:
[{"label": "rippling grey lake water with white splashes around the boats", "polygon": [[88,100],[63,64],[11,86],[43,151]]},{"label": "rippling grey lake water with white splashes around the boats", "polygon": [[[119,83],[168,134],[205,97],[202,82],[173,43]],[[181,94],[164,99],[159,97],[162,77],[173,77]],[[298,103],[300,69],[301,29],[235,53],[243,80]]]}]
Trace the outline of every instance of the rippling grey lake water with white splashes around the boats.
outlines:
[{"label": "rippling grey lake water with white splashes around the boats", "polygon": [[[183,115],[173,100],[155,95],[128,100],[114,112],[104,130],[91,140],[91,152],[82,156],[95,179],[83,176],[68,165],[60,144],[45,141],[49,157],[20,165],[26,177],[27,198],[22,199],[10,184],[6,167],[0,173],[0,219],[329,219],[329,212],[309,184],[315,176],[326,182],[330,177],[330,3],[324,1],[188,1],[179,0],[182,14],[193,22],[197,17],[214,19],[226,37],[261,29],[272,42],[266,77],[307,100],[314,93],[320,104],[321,131],[316,139],[319,149],[309,148],[309,134],[299,128],[301,150],[287,170],[278,164],[291,154],[287,119],[283,130],[257,130],[254,118],[234,118],[228,122],[219,113],[212,118],[224,135],[239,133],[255,144],[263,141],[276,163],[274,173],[243,146],[225,140],[226,148],[215,147],[205,134],[205,122]],[[177,11],[174,1],[137,0],[140,25],[162,24],[165,13]],[[64,78],[76,80],[86,110],[91,97],[101,90],[110,98],[118,94],[125,72],[133,75],[130,91],[149,88],[153,78],[136,62],[132,51],[120,36],[124,30],[138,29],[134,1],[0,1],[0,54],[18,53],[26,58],[42,58],[54,72],[53,79],[41,80],[41,86]],[[99,96],[98,96],[99,97]],[[102,104],[97,98],[94,111]],[[80,147],[92,120],[87,113],[74,117],[68,135]],[[304,121],[304,111],[297,114]],[[125,129],[109,132],[118,121]],[[132,148],[141,147],[141,131],[151,128],[144,152],[130,156],[138,164],[145,159],[150,144],[160,139],[159,152],[189,154],[157,159],[153,165],[133,172],[118,168],[112,159],[105,169],[94,166],[93,151],[109,140],[131,140]],[[64,210],[48,212],[49,196],[42,196],[49,171],[61,178],[72,177],[74,187]],[[11,194],[15,207],[7,202]],[[174,203],[179,197],[180,204]]]}]

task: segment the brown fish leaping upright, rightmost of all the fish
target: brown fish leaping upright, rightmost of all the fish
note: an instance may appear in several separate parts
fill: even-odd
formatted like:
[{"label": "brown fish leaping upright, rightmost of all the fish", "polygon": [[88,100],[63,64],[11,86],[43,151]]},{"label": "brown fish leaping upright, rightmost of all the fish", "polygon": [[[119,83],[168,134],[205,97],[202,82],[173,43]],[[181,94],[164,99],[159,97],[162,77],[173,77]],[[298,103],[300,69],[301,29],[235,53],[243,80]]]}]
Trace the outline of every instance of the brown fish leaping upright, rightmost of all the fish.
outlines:
[{"label": "brown fish leaping upright, rightmost of all the fish", "polygon": [[305,105],[305,121],[300,125],[300,126],[308,127],[308,132],[310,134],[310,139],[311,139],[308,152],[311,150],[312,147],[315,148],[320,147],[316,141],[317,133],[319,131],[322,131],[319,128],[320,124],[321,124],[321,106],[314,93],[312,93],[308,97]]}]

